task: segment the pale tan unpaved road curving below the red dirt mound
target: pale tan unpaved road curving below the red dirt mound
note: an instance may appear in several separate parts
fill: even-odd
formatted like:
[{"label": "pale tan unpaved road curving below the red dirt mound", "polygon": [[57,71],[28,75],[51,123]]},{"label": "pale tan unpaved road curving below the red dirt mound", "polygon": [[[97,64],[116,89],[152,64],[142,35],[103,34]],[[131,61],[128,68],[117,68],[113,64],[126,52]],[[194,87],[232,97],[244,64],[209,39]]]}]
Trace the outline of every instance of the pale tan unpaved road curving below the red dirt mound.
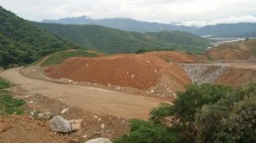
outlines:
[{"label": "pale tan unpaved road curving below the red dirt mound", "polygon": [[161,102],[149,97],[34,79],[23,75],[19,68],[2,71],[0,75],[32,94],[40,93],[95,114],[148,119],[150,110]]}]

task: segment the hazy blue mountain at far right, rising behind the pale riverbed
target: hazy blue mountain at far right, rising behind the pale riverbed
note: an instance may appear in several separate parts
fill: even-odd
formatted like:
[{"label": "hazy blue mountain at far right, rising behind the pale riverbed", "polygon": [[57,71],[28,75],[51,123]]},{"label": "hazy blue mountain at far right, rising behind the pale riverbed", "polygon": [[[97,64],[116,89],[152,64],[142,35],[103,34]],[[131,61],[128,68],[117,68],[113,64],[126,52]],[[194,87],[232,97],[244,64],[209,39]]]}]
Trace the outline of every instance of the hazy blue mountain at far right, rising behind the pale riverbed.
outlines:
[{"label": "hazy blue mountain at far right, rising behind the pale riverbed", "polygon": [[256,30],[256,24],[239,23],[239,24],[215,24],[206,25],[196,30],[194,33],[199,35],[212,35],[215,37],[243,37],[249,36],[250,32]]}]

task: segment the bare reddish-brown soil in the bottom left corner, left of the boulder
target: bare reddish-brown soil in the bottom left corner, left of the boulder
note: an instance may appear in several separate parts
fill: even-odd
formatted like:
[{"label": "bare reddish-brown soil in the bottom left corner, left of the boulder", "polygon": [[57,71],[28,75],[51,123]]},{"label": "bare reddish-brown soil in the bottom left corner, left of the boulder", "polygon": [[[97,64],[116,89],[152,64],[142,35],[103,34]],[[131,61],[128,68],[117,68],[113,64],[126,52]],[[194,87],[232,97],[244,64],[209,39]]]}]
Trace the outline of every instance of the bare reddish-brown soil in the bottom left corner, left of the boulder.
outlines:
[{"label": "bare reddish-brown soil in the bottom left corner, left of the boulder", "polygon": [[47,123],[24,117],[0,117],[0,142],[1,143],[67,143],[68,139],[61,134],[49,131]]}]

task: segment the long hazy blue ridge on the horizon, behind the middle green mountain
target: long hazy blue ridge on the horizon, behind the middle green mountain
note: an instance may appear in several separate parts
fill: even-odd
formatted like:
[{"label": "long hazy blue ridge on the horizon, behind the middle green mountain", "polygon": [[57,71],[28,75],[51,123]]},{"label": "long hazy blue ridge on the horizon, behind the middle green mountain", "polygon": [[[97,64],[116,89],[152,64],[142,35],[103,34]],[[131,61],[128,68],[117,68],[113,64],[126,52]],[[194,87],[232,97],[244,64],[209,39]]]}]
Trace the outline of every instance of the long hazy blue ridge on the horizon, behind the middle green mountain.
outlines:
[{"label": "long hazy blue ridge on the horizon, behind the middle green mountain", "polygon": [[185,25],[174,25],[174,24],[158,24],[158,23],[148,23],[140,22],[132,19],[102,19],[93,20],[89,17],[74,17],[65,18],[60,20],[43,20],[42,23],[48,24],[98,24],[111,28],[122,29],[126,31],[138,31],[138,32],[158,32],[162,30],[182,30],[193,32],[197,28],[194,26]]}]

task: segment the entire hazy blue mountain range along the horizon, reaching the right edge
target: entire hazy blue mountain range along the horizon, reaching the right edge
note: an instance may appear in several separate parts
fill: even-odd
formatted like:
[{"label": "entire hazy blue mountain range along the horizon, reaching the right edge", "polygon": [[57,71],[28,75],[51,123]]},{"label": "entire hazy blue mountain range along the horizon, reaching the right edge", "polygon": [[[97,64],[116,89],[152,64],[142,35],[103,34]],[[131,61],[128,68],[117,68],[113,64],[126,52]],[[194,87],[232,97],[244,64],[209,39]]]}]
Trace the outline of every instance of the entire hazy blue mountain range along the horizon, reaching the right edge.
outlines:
[{"label": "entire hazy blue mountain range along the horizon, reaching the right edge", "polygon": [[159,24],[140,22],[132,19],[102,19],[93,20],[89,17],[74,17],[60,20],[43,20],[42,23],[49,24],[98,24],[107,27],[122,29],[126,31],[138,32],[159,32],[162,30],[180,30],[189,31],[198,35],[212,35],[213,37],[251,37],[255,36],[256,24],[239,23],[239,24],[215,24],[203,27]]}]

